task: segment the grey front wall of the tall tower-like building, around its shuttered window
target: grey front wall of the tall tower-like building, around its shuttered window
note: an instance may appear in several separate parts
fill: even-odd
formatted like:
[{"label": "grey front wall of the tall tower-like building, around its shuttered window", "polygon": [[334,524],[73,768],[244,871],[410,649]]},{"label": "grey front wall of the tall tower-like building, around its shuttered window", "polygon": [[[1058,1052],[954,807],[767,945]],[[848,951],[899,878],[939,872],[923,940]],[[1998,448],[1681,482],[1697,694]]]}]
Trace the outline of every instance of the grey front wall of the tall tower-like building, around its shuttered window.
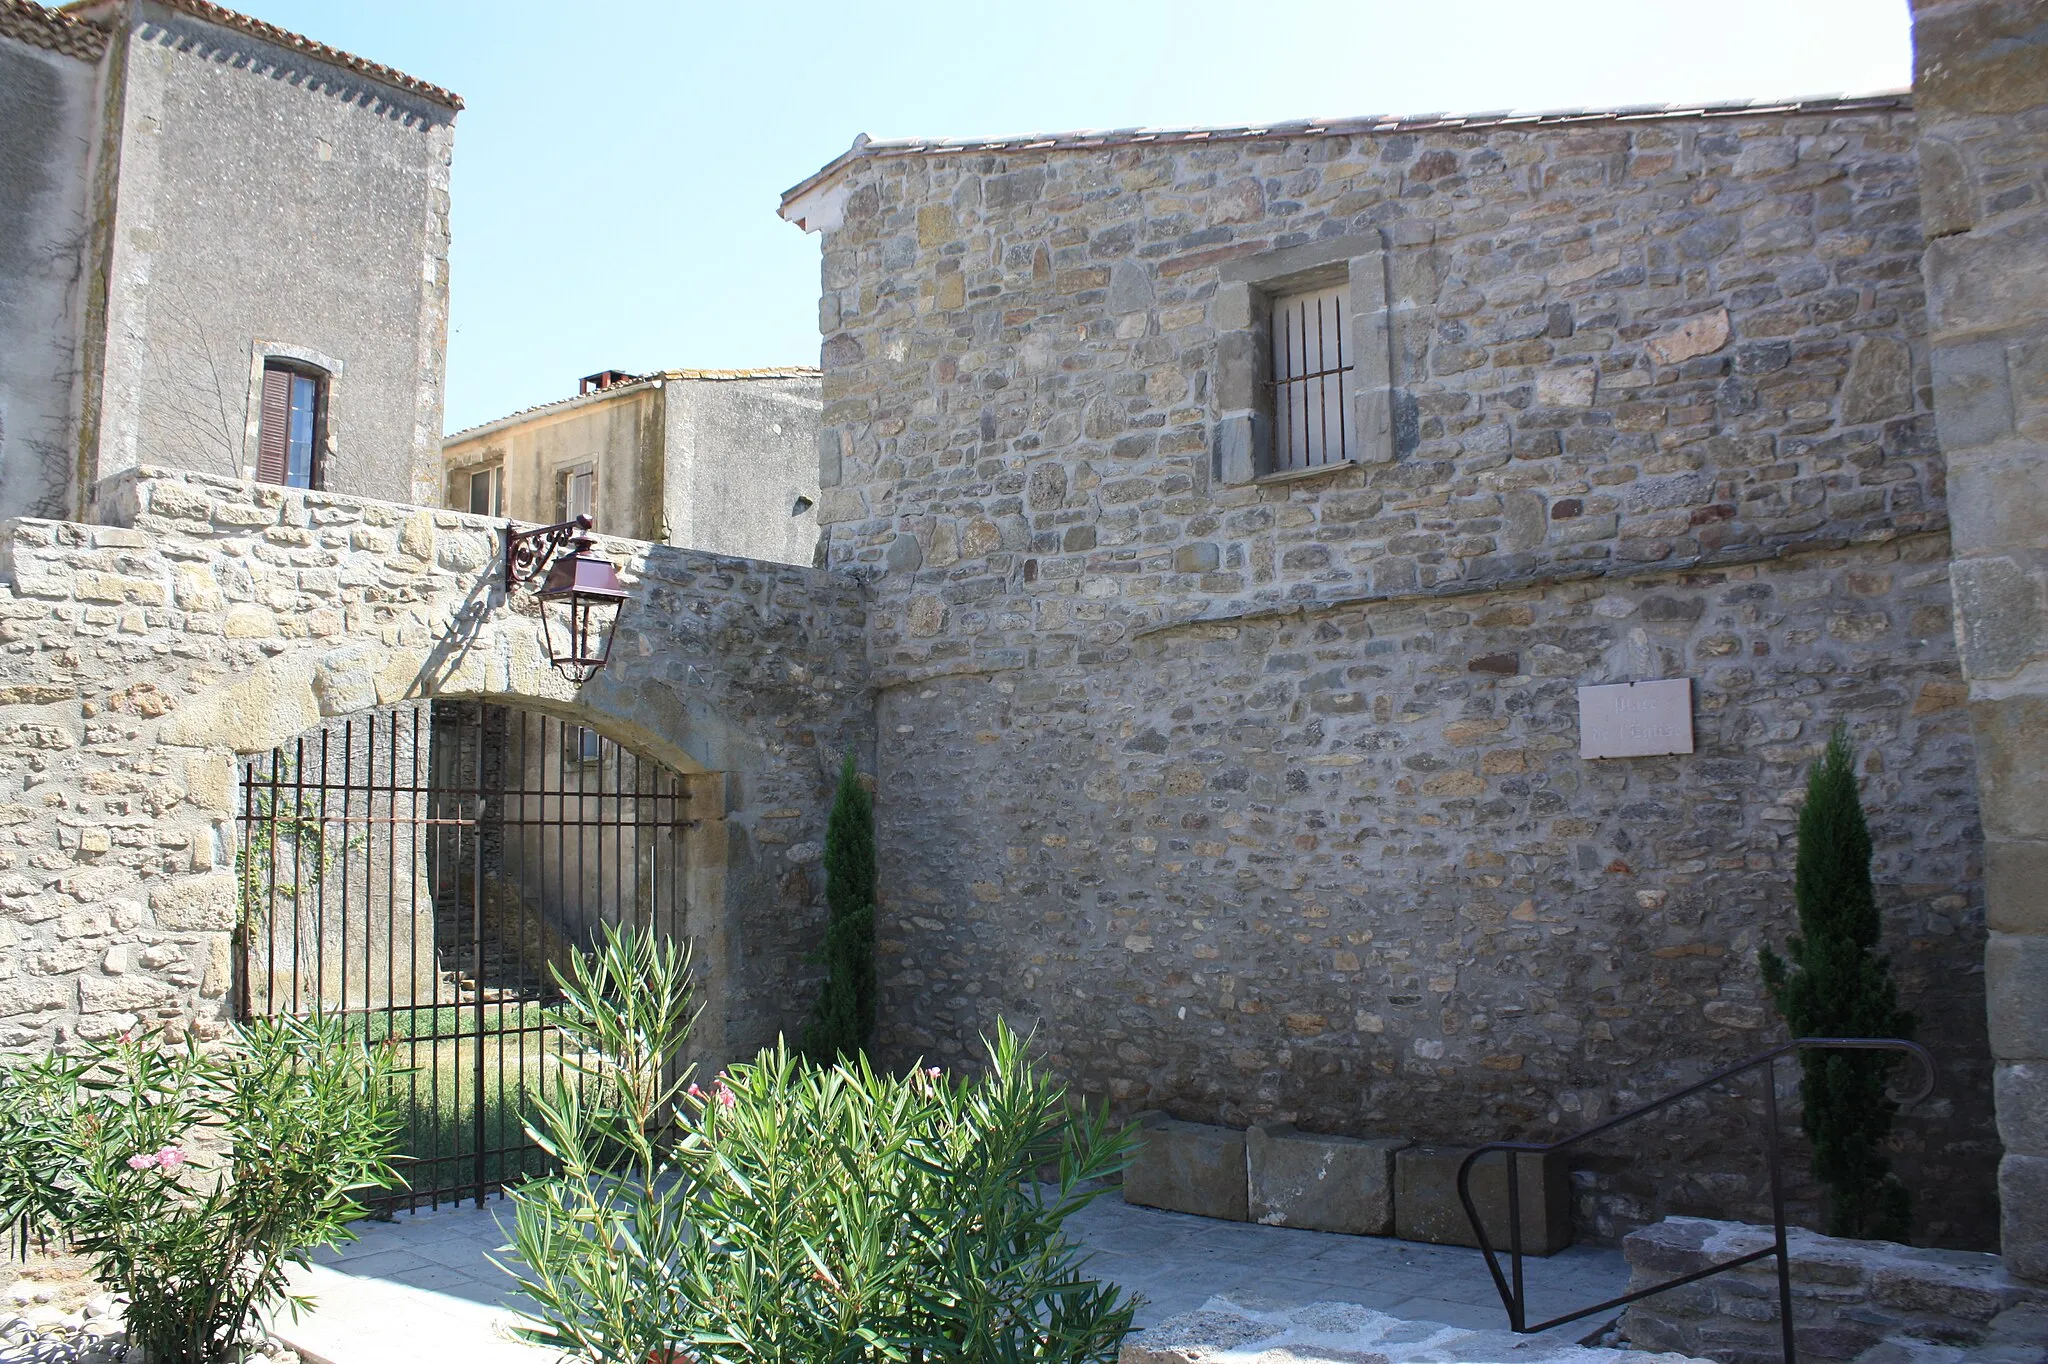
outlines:
[{"label": "grey front wall of the tall tower-like building, around its shuttered window", "polygon": [[117,96],[72,506],[137,463],[254,475],[266,354],[332,375],[328,489],[436,502],[453,96],[176,4],[92,14]]}]

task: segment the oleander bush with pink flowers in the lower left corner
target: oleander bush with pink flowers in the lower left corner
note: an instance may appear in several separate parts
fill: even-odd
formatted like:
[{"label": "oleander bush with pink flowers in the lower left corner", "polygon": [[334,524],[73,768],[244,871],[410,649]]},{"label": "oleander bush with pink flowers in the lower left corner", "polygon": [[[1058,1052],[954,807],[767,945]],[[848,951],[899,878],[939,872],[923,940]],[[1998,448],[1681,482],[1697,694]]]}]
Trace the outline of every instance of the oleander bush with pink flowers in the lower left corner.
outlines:
[{"label": "oleander bush with pink flowers in the lower left corner", "polygon": [[356,1194],[401,1184],[393,1067],[324,1018],[0,1067],[0,1219],[88,1258],[154,1364],[221,1360],[305,1307],[285,1270],[354,1239]]}]

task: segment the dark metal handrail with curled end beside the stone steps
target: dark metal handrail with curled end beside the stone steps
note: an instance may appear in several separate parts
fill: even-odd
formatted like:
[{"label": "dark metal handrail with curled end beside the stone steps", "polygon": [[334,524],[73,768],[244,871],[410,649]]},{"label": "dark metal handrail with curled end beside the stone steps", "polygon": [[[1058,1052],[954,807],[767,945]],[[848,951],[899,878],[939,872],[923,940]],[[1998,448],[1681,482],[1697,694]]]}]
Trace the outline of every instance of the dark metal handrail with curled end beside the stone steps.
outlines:
[{"label": "dark metal handrail with curled end beside the stone steps", "polygon": [[[1667,1288],[1679,1288],[1683,1284],[1698,1282],[1712,1274],[1724,1270],[1735,1270],[1739,1266],[1763,1260],[1765,1255],[1778,1255],[1778,1321],[1784,1335],[1784,1356],[1786,1364],[1798,1364],[1792,1350],[1792,1260],[1786,1253],[1786,1196],[1784,1196],[1784,1163],[1778,1147],[1778,1057],[1786,1057],[1796,1051],[1901,1051],[1917,1057],[1925,1079],[1921,1088],[1903,1100],[1894,1100],[1901,1106],[1917,1104],[1919,1100],[1933,1094],[1935,1085],[1935,1065],[1933,1057],[1919,1042],[1907,1042],[1901,1038],[1876,1038],[1876,1036],[1802,1036],[1786,1042],[1784,1047],[1772,1047],[1769,1051],[1759,1051],[1747,1061],[1737,1061],[1724,1071],[1714,1071],[1698,1083],[1690,1083],[1675,1094],[1667,1094],[1661,1100],[1642,1104],[1640,1108],[1630,1108],[1624,1114],[1616,1114],[1606,1122],[1595,1122],[1583,1133],[1573,1133],[1563,1141],[1489,1141],[1483,1147],[1475,1147],[1470,1155],[1458,1165],[1458,1202],[1464,1204],[1464,1217],[1473,1223],[1473,1235],[1479,1239],[1479,1249],[1487,1258],[1487,1272],[1493,1274],[1493,1286],[1501,1294],[1501,1307],[1507,1309],[1507,1325],[1516,1335],[1534,1335],[1536,1331],[1548,1331],[1550,1327],[1565,1325],[1567,1321],[1579,1321],[1581,1317],[1591,1317],[1593,1313],[1604,1313],[1610,1307],[1626,1307],[1636,1298],[1647,1298],[1653,1292],[1665,1292]],[[1624,1122],[1634,1122],[1659,1108],[1669,1108],[1671,1104],[1692,1098],[1702,1090],[1712,1090],[1714,1085],[1729,1081],[1745,1071],[1763,1067],[1763,1137],[1765,1151],[1769,1155],[1772,1167],[1772,1245],[1747,1255],[1737,1255],[1735,1260],[1724,1260],[1720,1264],[1708,1266],[1704,1270],[1694,1270],[1692,1274],[1681,1274],[1663,1284],[1651,1288],[1636,1288],[1634,1292],[1624,1292],[1618,1298],[1608,1298],[1606,1303],[1595,1303],[1593,1307],[1583,1307],[1575,1313],[1565,1313],[1563,1317],[1552,1317],[1536,1325],[1528,1325],[1528,1292],[1522,1284],[1522,1184],[1520,1184],[1520,1153],[1548,1155],[1550,1151],[1563,1151],[1565,1147],[1577,1145],[1602,1133],[1610,1133]],[[1481,1155],[1491,1151],[1503,1151],[1507,1155],[1507,1255],[1509,1272],[1501,1274],[1499,1253],[1493,1249],[1493,1239],[1487,1235],[1485,1225],[1479,1221],[1479,1206],[1473,1202],[1470,1176],[1473,1163]]]}]

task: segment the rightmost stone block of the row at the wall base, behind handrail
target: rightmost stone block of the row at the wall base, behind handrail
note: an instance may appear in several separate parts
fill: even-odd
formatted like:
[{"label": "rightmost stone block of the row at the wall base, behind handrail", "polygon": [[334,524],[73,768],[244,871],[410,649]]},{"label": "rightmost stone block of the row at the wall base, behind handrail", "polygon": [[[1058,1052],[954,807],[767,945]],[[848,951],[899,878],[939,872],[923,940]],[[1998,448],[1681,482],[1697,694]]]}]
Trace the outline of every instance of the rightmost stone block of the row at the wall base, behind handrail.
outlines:
[{"label": "rightmost stone block of the row at the wall base, behind handrail", "polygon": [[[1470,1147],[1405,1147],[1395,1153],[1395,1235],[1432,1245],[1479,1245],[1458,1200],[1458,1165]],[[1561,1153],[1524,1151],[1518,1169],[1522,1251],[1552,1255],[1571,1245],[1571,1171]],[[1493,1249],[1507,1253],[1507,1161],[1487,1155],[1473,1167],[1473,1202]]]}]

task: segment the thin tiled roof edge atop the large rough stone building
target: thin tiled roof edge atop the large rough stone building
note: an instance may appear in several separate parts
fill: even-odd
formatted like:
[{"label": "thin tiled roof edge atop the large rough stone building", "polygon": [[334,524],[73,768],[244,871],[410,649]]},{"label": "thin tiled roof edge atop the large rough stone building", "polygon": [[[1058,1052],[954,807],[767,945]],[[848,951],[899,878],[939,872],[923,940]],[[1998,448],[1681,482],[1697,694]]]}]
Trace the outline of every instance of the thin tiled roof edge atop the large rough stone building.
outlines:
[{"label": "thin tiled roof edge atop the large rough stone building", "polygon": [[1833,115],[1913,109],[1911,90],[1874,94],[1823,94],[1796,100],[1722,100],[1714,104],[1632,104],[1626,109],[1499,109],[1473,115],[1366,115],[1358,119],[1296,119],[1245,127],[1120,127],[1077,133],[1024,133],[1014,137],[893,137],[854,145],[817,172],[782,193],[782,205],[831,180],[864,158],[956,156],[961,152],[1094,152],[1124,145],[1180,145],[1214,141],[1284,141],[1290,137],[1358,137],[1370,133],[1438,133],[1489,127],[1589,127],[1604,123],[1651,123],[1663,119],[1733,119],[1741,115]]}]

